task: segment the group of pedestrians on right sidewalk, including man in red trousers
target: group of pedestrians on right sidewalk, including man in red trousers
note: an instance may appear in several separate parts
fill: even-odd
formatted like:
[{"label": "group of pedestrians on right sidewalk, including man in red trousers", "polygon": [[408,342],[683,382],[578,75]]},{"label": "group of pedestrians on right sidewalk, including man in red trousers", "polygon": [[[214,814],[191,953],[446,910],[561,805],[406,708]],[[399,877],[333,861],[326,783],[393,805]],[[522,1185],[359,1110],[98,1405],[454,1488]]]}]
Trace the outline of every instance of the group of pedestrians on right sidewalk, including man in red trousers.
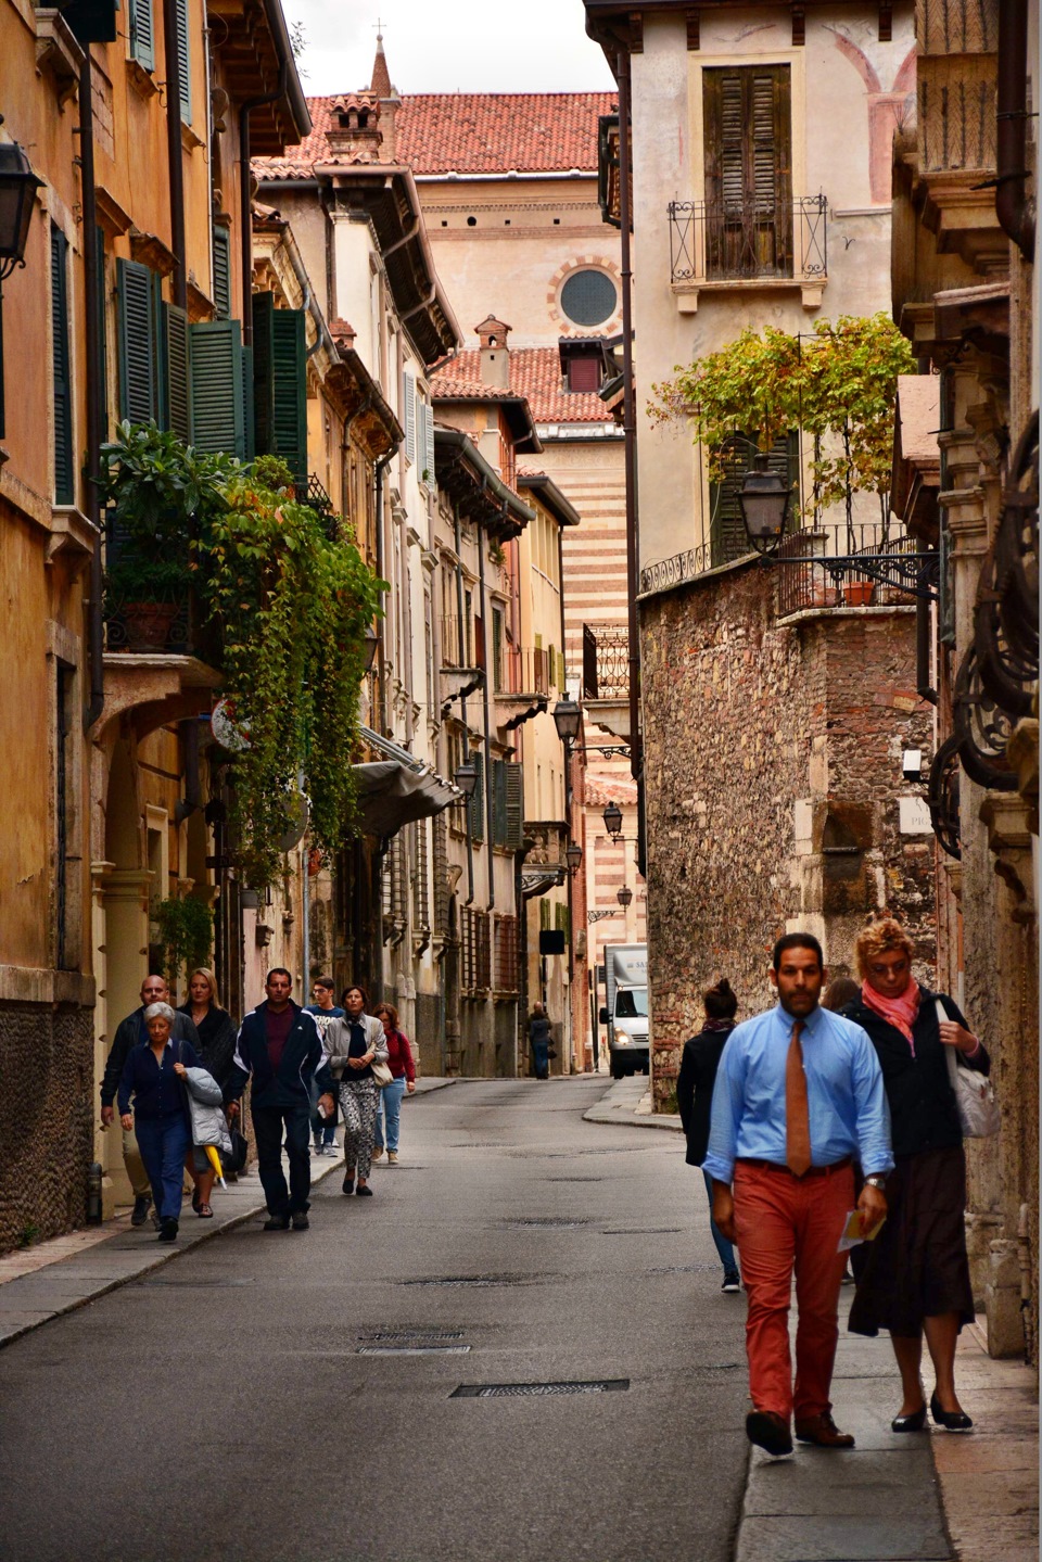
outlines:
[{"label": "group of pedestrians on right sidewalk, including man in red trousers", "polygon": [[948,1054],[981,1075],[990,1065],[953,1000],[915,981],[912,954],[898,922],[875,918],[856,943],[859,981],[826,993],[819,940],[786,934],[769,973],[775,1007],[736,1025],[737,998],[719,981],[703,995],[703,1029],[684,1047],[676,1093],[687,1161],[706,1181],[723,1290],[744,1286],[748,1301],[745,1429],[773,1456],[792,1453],[794,1429],[819,1448],[855,1443],[830,1398],[845,1232],[856,1243],[848,1329],[887,1329],[901,1375],[892,1431],[922,1431],[928,1410],[948,1432],[973,1426],[955,1387],[973,1295]]}]

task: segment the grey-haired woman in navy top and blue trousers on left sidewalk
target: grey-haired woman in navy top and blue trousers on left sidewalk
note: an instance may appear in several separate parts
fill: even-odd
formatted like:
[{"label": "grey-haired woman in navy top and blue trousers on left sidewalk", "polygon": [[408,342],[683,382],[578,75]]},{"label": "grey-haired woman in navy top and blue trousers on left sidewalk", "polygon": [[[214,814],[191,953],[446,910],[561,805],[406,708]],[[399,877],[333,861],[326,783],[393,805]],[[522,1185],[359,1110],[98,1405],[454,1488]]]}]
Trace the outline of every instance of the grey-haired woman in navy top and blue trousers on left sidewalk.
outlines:
[{"label": "grey-haired woman in navy top and blue trousers on left sidewalk", "polygon": [[177,1014],[169,1003],[150,1003],[144,1018],[145,1042],[127,1053],[119,1082],[120,1123],[125,1134],[136,1134],[148,1172],[159,1242],[177,1242],[184,1159],[192,1148],[184,1079],[187,1068],[198,1068],[198,1057],[189,1042],[175,1043]]}]

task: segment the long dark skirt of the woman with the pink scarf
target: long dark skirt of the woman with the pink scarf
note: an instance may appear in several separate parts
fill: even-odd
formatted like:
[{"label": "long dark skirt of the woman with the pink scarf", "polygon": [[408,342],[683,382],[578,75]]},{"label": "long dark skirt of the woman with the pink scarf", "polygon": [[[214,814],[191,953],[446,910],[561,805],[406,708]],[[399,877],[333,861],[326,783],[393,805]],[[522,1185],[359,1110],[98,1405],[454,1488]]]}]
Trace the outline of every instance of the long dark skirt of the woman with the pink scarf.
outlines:
[{"label": "long dark skirt of the woman with the pink scarf", "polygon": [[900,1156],[886,1182],[887,1217],[875,1242],[856,1248],[851,1334],[889,1329],[915,1339],[923,1318],[945,1312],[972,1323],[965,1256],[965,1154],[961,1145]]}]

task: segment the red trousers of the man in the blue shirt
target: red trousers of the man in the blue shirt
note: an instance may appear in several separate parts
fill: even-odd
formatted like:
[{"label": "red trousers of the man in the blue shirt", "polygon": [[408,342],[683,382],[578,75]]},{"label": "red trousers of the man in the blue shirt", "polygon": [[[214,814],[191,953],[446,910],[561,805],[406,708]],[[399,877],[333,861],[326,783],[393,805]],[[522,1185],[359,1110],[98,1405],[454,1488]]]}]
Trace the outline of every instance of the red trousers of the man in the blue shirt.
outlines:
[{"label": "red trousers of the man in the blue shirt", "polygon": [[[748,1390],[758,1410],[789,1420],[831,1410],[828,1396],[839,1337],[839,1287],[847,1256],[837,1253],[855,1203],[851,1167],[797,1179],[784,1172],[734,1167],[734,1234],[748,1295]],[[789,1303],[797,1278],[797,1376],[792,1385]]]}]

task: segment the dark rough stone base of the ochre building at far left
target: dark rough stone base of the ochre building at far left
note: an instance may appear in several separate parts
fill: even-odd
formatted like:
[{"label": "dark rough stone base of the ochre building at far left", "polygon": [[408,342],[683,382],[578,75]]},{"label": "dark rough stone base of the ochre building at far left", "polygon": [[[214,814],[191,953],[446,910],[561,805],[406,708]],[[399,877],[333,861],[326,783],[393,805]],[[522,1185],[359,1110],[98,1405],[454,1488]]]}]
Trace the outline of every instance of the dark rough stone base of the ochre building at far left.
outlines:
[{"label": "dark rough stone base of the ochre building at far left", "polygon": [[0,1253],[84,1221],[92,1020],[72,1004],[0,1003]]}]

